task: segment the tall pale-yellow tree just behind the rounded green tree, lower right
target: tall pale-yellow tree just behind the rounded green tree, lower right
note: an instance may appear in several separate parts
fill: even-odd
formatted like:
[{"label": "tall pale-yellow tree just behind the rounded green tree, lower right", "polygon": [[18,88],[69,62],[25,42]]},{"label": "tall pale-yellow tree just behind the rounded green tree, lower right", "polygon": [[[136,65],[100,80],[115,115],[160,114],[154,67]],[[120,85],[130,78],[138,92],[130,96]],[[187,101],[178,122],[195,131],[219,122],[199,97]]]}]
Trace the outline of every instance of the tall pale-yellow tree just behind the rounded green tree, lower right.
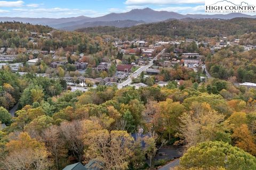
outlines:
[{"label": "tall pale-yellow tree just behind the rounded green tree, lower right", "polygon": [[190,112],[184,113],[180,120],[181,133],[187,147],[195,146],[198,142],[222,140],[230,142],[230,135],[223,115],[214,111],[207,103],[193,103]]}]

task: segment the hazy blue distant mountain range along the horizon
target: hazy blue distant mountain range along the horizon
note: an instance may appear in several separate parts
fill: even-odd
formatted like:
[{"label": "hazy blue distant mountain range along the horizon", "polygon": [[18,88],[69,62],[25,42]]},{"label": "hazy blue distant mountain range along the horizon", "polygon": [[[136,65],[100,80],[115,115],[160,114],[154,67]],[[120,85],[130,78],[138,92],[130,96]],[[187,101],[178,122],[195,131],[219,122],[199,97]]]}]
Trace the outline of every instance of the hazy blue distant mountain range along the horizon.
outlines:
[{"label": "hazy blue distant mountain range along the horizon", "polygon": [[154,11],[150,8],[134,9],[125,13],[110,13],[107,15],[90,18],[87,16],[77,16],[70,18],[10,18],[0,17],[0,21],[19,21],[23,23],[49,25],[50,27],[62,30],[76,30],[79,28],[114,26],[119,28],[132,27],[142,23],[152,23],[170,19],[233,19],[233,18],[256,18],[256,15],[242,13],[230,14],[186,14],[182,15],[168,11]]}]

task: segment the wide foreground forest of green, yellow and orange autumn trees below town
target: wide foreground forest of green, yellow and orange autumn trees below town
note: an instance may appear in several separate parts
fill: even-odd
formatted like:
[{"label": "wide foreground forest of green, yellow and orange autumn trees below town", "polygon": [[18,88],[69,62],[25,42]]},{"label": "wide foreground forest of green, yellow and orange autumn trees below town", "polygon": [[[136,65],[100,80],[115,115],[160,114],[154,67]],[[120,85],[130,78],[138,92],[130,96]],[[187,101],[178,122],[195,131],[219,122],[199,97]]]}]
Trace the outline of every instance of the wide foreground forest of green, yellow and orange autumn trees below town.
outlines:
[{"label": "wide foreground forest of green, yellow and orange autumn trees below town", "polygon": [[[163,88],[71,92],[62,91],[61,81],[4,70],[1,80],[4,94],[20,94],[15,117],[0,109],[0,121],[8,125],[0,131],[2,169],[61,169],[89,160],[102,162],[104,169],[144,169],[163,144],[189,148],[175,169],[256,167],[254,89],[209,79],[201,86],[187,80],[182,88],[170,81]],[[138,129],[150,135],[134,140]],[[203,150],[212,154],[195,158]],[[213,162],[219,154],[223,157]]]}]

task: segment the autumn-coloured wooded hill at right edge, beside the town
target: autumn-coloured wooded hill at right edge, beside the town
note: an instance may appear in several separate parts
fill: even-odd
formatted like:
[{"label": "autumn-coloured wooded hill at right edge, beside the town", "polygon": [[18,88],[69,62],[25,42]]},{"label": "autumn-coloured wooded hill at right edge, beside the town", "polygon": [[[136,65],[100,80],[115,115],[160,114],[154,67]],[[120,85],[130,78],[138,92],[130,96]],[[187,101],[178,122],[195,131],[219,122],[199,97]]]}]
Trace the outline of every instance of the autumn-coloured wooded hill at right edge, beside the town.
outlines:
[{"label": "autumn-coloured wooded hill at right edge, beside the town", "polygon": [[206,58],[207,70],[214,78],[233,82],[256,82],[256,50],[244,52],[238,46],[223,48]]}]

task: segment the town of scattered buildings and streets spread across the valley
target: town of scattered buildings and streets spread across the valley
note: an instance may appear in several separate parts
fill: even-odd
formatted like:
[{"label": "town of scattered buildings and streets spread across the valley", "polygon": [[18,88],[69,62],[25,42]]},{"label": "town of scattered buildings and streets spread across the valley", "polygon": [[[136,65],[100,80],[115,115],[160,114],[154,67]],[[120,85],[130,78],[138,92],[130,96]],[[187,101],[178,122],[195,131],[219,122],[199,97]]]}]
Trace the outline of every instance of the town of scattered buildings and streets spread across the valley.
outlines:
[{"label": "town of scattered buildings and streets spread across the valley", "polygon": [[[13,29],[3,29],[3,31],[15,31]],[[194,71],[202,70],[204,63],[202,61],[202,55],[199,53],[184,53],[179,46],[181,44],[194,44],[196,48],[199,46],[210,46],[211,53],[217,52],[219,49],[239,45],[239,39],[233,39],[228,41],[227,37],[220,38],[215,44],[210,42],[195,41],[193,39],[186,40],[174,40],[174,41],[156,41],[154,44],[149,44],[145,40],[132,40],[122,41],[118,38],[107,37],[103,39],[105,43],[111,43],[117,50],[117,59],[110,61],[102,61],[97,65],[90,62],[91,56],[85,56],[85,54],[76,52],[62,52],[62,56],[59,50],[39,50],[37,48],[37,41],[39,39],[51,39],[51,32],[40,34],[38,32],[30,32],[28,46],[30,49],[23,49],[23,51],[17,52],[17,49],[11,47],[2,47],[0,50],[0,66],[9,66],[13,72],[17,72],[20,75],[26,74],[24,67],[36,67],[41,66],[41,61],[44,63],[47,60],[47,67],[45,71],[37,71],[38,76],[53,77],[52,69],[58,70],[58,68],[67,71],[63,75],[63,79],[67,81],[69,88],[73,91],[82,90],[87,91],[87,88],[95,88],[99,84],[106,86],[117,86],[122,88],[125,86],[133,86],[136,89],[139,87],[152,86],[157,84],[158,86],[167,85],[167,81],[159,79],[159,73],[163,68],[187,67],[188,70]],[[242,45],[245,51],[256,48],[252,45]],[[63,56],[65,54],[65,56]],[[27,61],[24,61],[22,55],[29,56]],[[23,60],[23,61],[22,61]],[[22,61],[22,62],[17,62]],[[40,65],[41,64],[41,65]],[[205,68],[205,67],[204,67]],[[111,73],[109,72],[111,71]],[[86,74],[87,72],[94,72],[99,75],[95,77]],[[69,73],[68,73],[69,72]],[[143,72],[143,78],[148,81],[139,82],[138,77]],[[110,76],[109,76],[110,75]],[[207,76],[199,75],[199,79],[203,81]],[[53,77],[54,78],[54,77]],[[153,80],[151,80],[153,78]],[[176,80],[179,84],[179,80]],[[153,84],[152,84],[153,83]]]}]

